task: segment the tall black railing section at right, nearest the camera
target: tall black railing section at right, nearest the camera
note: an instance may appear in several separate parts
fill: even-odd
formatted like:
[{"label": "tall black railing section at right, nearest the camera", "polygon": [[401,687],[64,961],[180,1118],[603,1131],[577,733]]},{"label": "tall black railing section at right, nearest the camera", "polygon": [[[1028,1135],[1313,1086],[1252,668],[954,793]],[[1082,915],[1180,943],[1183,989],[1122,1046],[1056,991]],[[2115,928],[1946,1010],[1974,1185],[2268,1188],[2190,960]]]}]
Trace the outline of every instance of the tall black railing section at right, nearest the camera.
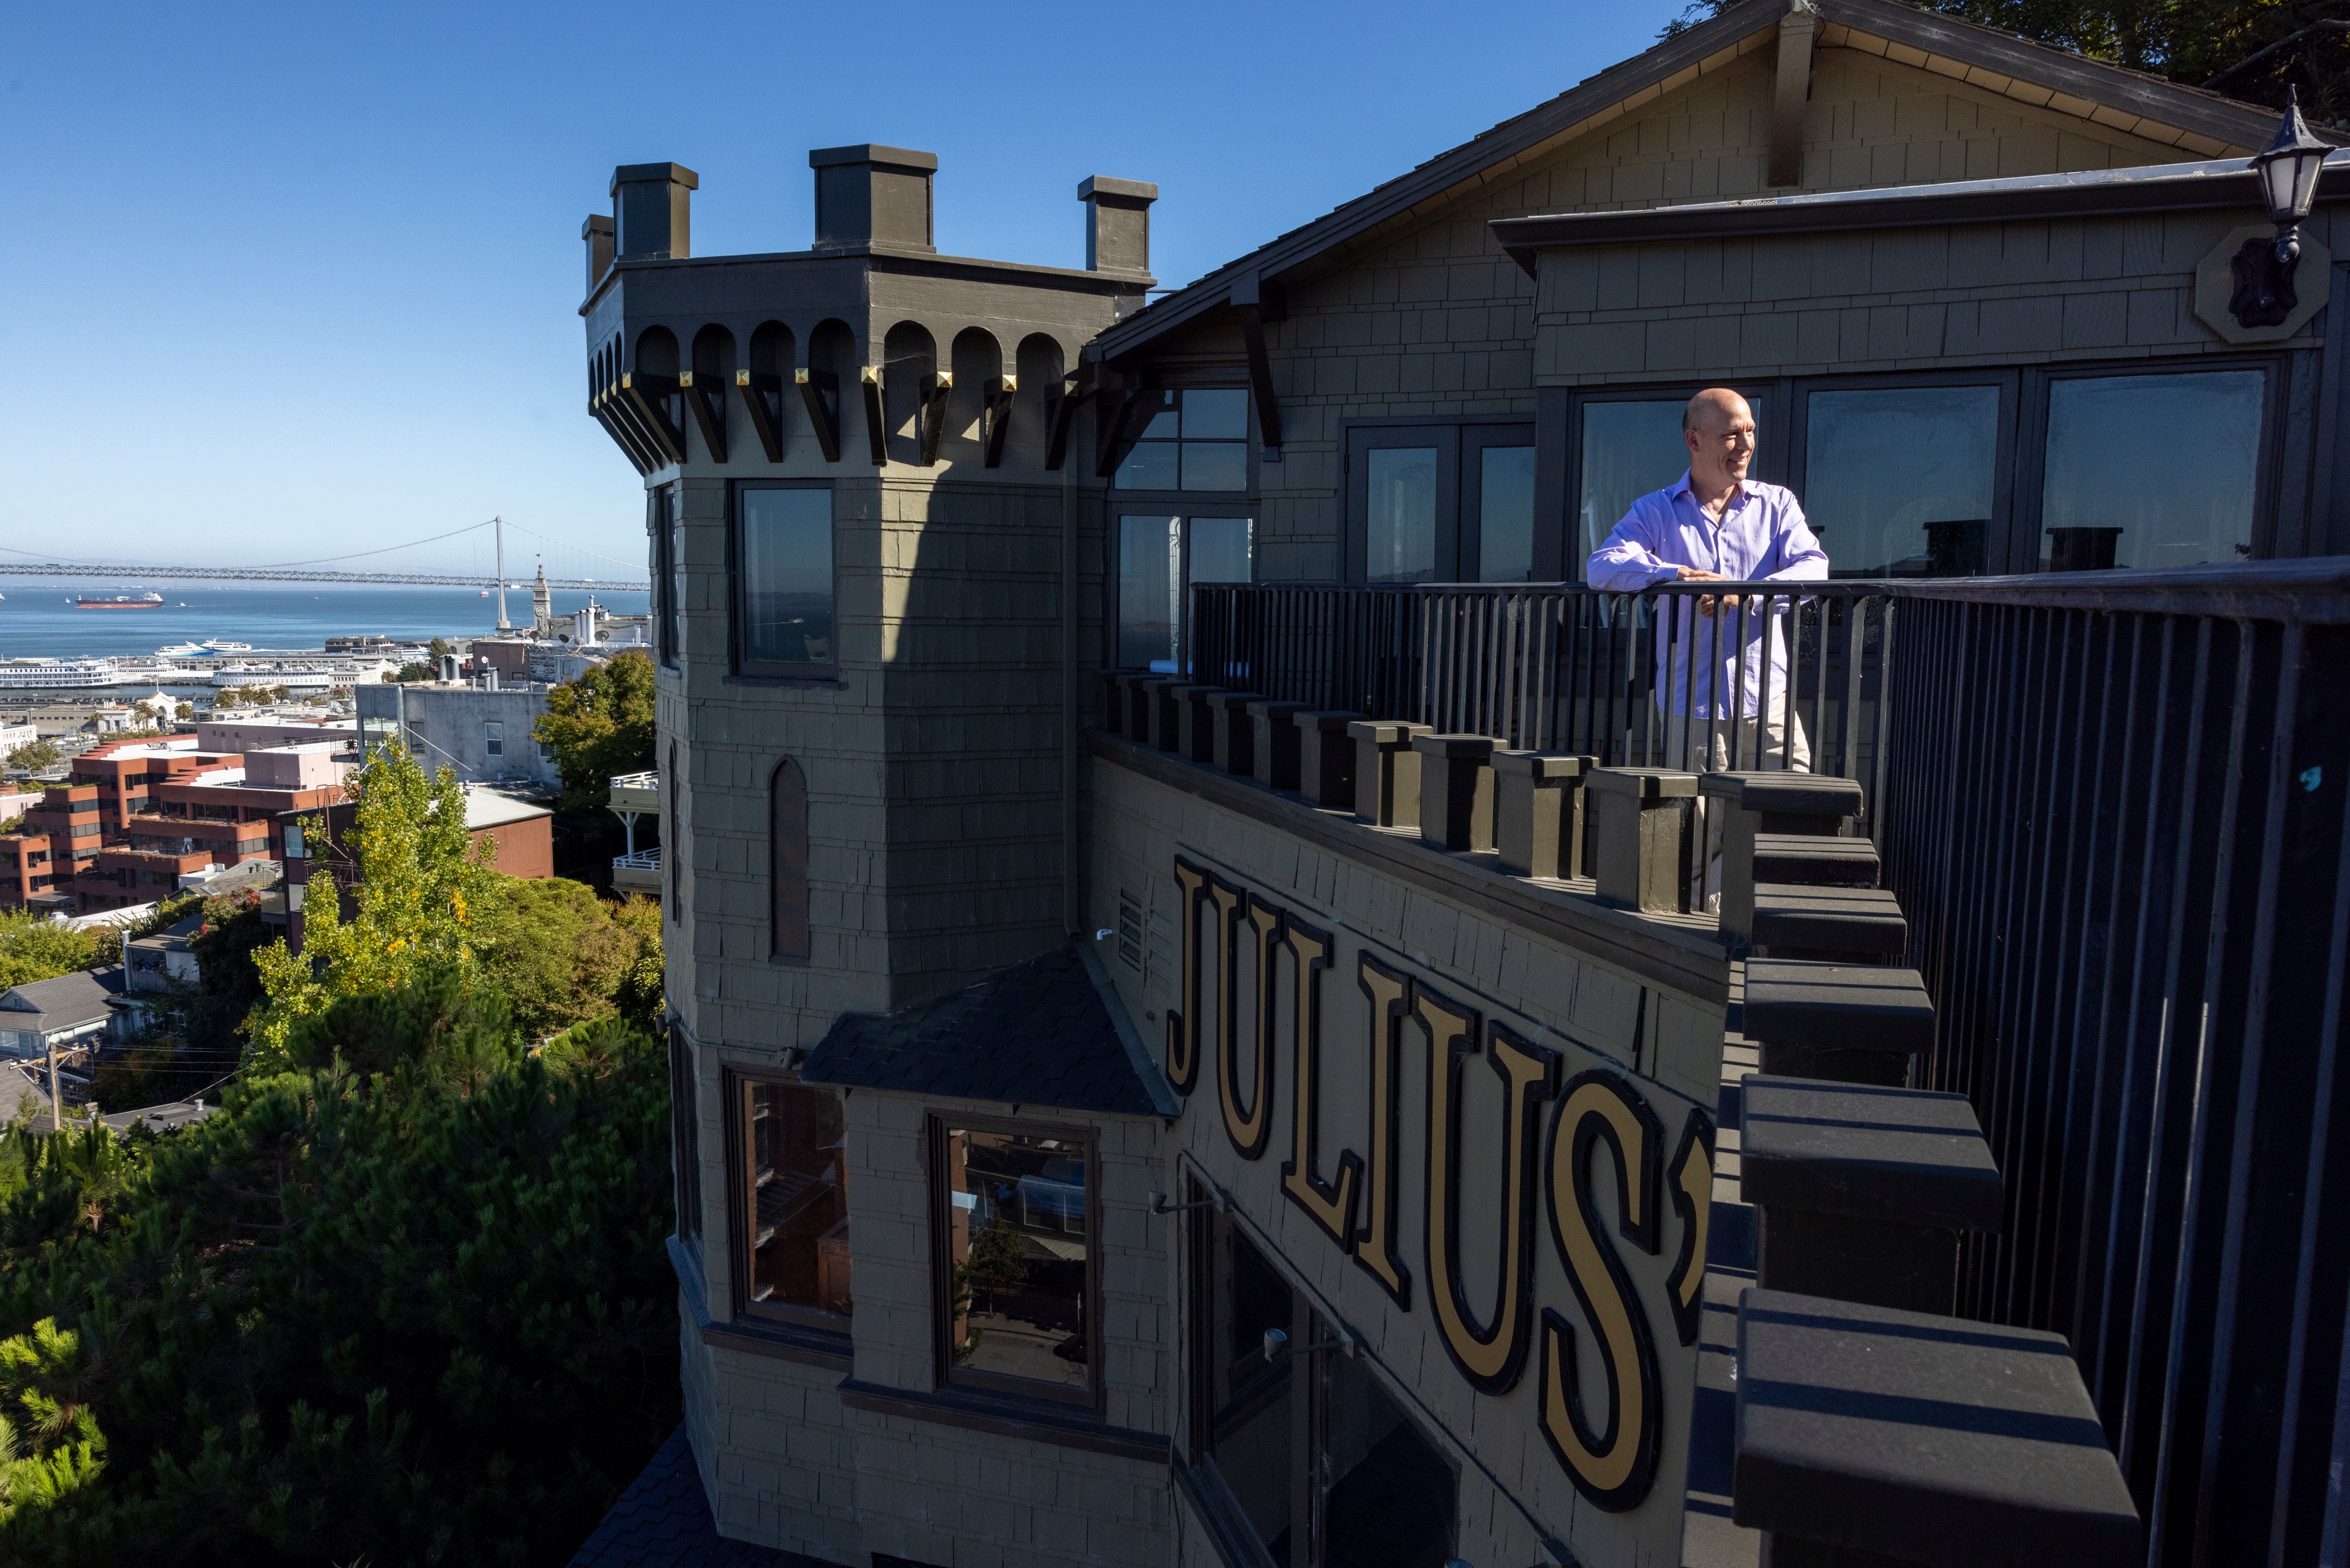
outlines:
[{"label": "tall black railing section at right, nearest the camera", "polygon": [[2007,1182],[1962,1302],[2070,1338],[2150,1563],[2341,1561],[2350,564],[2131,576],[1896,609],[1880,846]]}]

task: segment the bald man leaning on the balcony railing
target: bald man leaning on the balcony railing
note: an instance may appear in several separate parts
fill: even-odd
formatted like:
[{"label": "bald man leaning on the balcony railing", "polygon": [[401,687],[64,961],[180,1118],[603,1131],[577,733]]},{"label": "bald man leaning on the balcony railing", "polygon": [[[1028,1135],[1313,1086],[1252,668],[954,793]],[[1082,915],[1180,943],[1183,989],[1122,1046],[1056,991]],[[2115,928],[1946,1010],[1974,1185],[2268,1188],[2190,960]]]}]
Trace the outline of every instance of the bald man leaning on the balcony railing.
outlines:
[{"label": "bald man leaning on the balcony railing", "polygon": [[[1680,440],[1690,449],[1690,470],[1631,503],[1584,567],[1593,588],[1633,592],[1673,581],[1817,583],[1828,576],[1828,552],[1805,527],[1795,496],[1746,477],[1755,456],[1755,416],[1744,397],[1723,386],[1706,388],[1683,411]],[[1786,642],[1779,632],[1795,599],[1666,597],[1678,599],[1657,625],[1657,701],[1668,715],[1666,766],[1725,769],[1734,743],[1739,766],[1810,771],[1812,748],[1786,698]],[[1744,701],[1732,708],[1730,691],[1737,686]],[[1668,703],[1664,693],[1671,693]],[[1711,745],[1704,743],[1706,731]]]}]

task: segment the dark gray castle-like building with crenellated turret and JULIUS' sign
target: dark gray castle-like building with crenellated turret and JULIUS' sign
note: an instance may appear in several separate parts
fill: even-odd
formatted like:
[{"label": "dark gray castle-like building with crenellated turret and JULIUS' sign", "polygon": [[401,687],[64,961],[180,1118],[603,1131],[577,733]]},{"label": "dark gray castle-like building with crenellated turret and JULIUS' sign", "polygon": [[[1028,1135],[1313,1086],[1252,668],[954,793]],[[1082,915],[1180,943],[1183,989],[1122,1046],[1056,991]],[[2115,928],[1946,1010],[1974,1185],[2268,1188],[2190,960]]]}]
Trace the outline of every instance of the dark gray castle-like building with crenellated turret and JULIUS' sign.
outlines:
[{"label": "dark gray castle-like building with crenellated turret and JULIUS' sign", "polygon": [[[691,254],[691,169],[616,169],[580,315],[658,588],[670,1253],[719,1530],[1490,1568],[1751,1563],[1755,1528],[1894,1556],[1948,1521],[2030,1561],[2054,1535],[1948,1502],[1993,1462],[1852,1467],[1993,1408],[1934,1378],[1995,1342],[2068,1422],[2009,1476],[2061,1472],[2099,1561],[2148,1528],[2315,1549],[2350,1450],[2350,1274],[2294,1229],[2319,1201],[2254,1232],[2193,1180],[2216,1154],[2113,1131],[2160,1079],[2244,1168],[2331,1168],[2305,1107],[2341,1093],[2345,936],[2282,910],[2336,907],[2350,595],[2287,557],[2350,550],[2350,172],[2315,181],[2298,303],[2247,324],[2275,132],[1887,0],[1753,0],[1147,306],[1142,181],[1079,188],[1062,270],[940,254],[928,153],[813,153],[813,244],[750,256]],[[1640,639],[1692,618],[1570,583],[1711,383],[1854,578],[1767,611],[1805,618],[1821,780],[1772,806],[1661,766]],[[2110,564],[2174,576],[1986,581]],[[1798,827],[1838,849],[1762,844]],[[1720,912],[1699,830],[1744,877]],[[2225,971],[2223,1103],[2162,1077],[2148,1020],[2207,997],[2157,947]],[[1918,1218],[1852,1178],[1882,1206],[1772,1211],[1770,1253],[1767,1182],[1716,1159],[1760,1138],[1741,1081],[1852,1063],[1762,1032],[1748,961],[1821,954],[1899,994],[1868,1093],[1974,1093],[1929,1098],[1974,1185]],[[2092,978],[2129,1004],[2070,1009]],[[2157,1194],[2143,1248],[2087,1197],[2122,1187]],[[1894,1302],[1852,1284],[1887,1237],[1939,1258]],[[1772,1361],[1817,1302],[1741,1309],[1798,1279],[1871,1331],[1920,1314],[1871,1340],[1932,1345],[1875,1415],[1833,1347]],[[2164,1349],[2235,1312],[2263,1331],[2209,1382]],[[1847,1422],[1842,1458],[1741,1453],[1774,1408]]]}]

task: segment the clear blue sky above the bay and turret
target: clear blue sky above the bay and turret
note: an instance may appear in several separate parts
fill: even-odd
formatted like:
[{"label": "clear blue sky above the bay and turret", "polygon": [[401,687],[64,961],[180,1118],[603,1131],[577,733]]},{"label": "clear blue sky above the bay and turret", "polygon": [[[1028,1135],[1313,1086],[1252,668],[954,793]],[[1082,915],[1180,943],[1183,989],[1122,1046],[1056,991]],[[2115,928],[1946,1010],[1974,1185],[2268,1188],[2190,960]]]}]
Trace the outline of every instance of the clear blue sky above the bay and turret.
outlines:
[{"label": "clear blue sky above the bay and turret", "polygon": [[503,512],[642,559],[583,404],[578,226],[703,176],[797,249],[806,150],[938,153],[938,242],[1083,266],[1154,179],[1184,282],[1647,47],[1626,5],[14,5],[0,543],[275,562]]}]

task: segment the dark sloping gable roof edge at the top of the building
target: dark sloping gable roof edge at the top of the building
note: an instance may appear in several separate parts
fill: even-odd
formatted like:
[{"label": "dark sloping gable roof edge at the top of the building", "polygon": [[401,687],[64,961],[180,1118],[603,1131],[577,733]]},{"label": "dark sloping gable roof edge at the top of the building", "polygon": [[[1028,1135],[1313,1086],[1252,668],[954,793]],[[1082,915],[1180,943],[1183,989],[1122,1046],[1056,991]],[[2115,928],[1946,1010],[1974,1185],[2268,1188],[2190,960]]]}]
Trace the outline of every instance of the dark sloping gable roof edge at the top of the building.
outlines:
[{"label": "dark sloping gable roof edge at the top of the building", "polygon": [[[2188,155],[2216,158],[2230,150],[2249,155],[2265,146],[2277,127],[2275,110],[2256,103],[2108,66],[1974,21],[1920,12],[1901,0],[1812,0],[1812,9],[1824,24],[1819,47],[1882,54],[1894,63],[2178,146]],[[1567,141],[1767,47],[1786,12],[1788,0],[1746,0],[1676,33],[1144,306],[1102,329],[1088,357],[1130,355],[1175,327],[1234,303],[1236,292],[1255,299],[1257,287],[1276,282],[1283,273],[1304,270],[1429,219],[1471,186],[1509,179]],[[2336,139],[2331,132],[2319,136]]]}]

